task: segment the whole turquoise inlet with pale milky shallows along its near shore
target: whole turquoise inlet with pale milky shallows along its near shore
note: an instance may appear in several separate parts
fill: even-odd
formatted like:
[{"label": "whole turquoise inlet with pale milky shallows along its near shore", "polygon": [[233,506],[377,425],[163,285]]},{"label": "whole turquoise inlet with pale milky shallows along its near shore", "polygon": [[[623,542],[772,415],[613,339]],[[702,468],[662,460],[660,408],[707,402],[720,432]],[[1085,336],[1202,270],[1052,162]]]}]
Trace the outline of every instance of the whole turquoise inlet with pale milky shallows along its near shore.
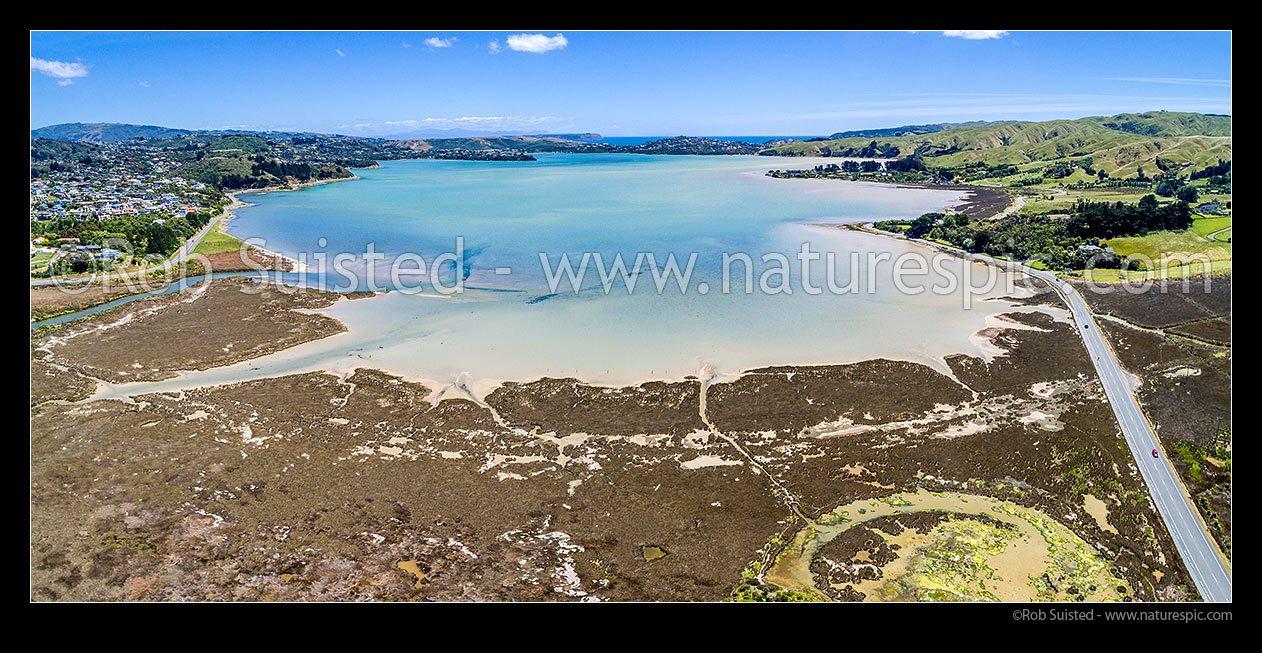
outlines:
[{"label": "whole turquoise inlet with pale milky shallows along its near shore", "polygon": [[[504,380],[577,376],[626,384],[736,374],[764,365],[914,360],[949,371],[943,356],[994,354],[976,333],[991,316],[1015,308],[994,298],[1016,291],[993,268],[941,256],[924,274],[929,288],[949,275],[992,287],[960,294],[907,292],[891,283],[888,259],[849,268],[849,256],[897,258],[930,251],[905,241],[827,226],[882,217],[912,217],[958,201],[958,193],[820,179],[772,179],[769,168],[808,167],[810,159],[760,157],[541,155],[534,163],[389,162],[362,179],[295,192],[244,196],[228,230],[261,236],[289,256],[316,253],[418,253],[433,260],[464,239],[467,291],[440,296],[387,292],[337,302],[322,313],[348,331],[246,364],[106,394],[178,390],[308,370],[384,369],[432,388],[481,395]],[[319,245],[321,240],[323,245]],[[837,283],[854,292],[810,294],[804,280],[825,280],[817,263],[790,273],[791,293],[743,292],[734,265],[731,293],[721,292],[723,253],[794,254],[803,243],[832,253]],[[621,253],[659,260],[697,254],[680,291],[658,293],[641,274],[634,293],[620,283],[601,292],[589,275],[582,292],[551,292],[539,253],[555,261]],[[577,263],[577,260],[575,260]],[[863,265],[867,265],[864,261]],[[356,282],[389,287],[380,269],[357,264]],[[507,274],[496,274],[507,268]],[[757,263],[755,278],[767,268]],[[387,275],[385,275],[387,277]],[[336,283],[345,283],[334,279]],[[312,282],[308,282],[312,283]],[[703,292],[707,287],[708,293]],[[496,291],[496,292],[492,292]]]}]

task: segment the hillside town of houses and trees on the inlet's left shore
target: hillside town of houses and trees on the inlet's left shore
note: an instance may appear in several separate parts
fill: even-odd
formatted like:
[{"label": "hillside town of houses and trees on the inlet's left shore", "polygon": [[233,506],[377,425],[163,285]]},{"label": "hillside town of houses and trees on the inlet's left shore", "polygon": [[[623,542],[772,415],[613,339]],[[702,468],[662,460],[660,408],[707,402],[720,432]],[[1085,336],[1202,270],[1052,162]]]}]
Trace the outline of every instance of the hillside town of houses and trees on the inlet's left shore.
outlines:
[{"label": "hillside town of houses and trees on the inlet's left shore", "polygon": [[309,134],[35,138],[30,272],[48,277],[163,259],[227,205],[227,192],[347,178],[347,168],[410,154],[379,141]]}]

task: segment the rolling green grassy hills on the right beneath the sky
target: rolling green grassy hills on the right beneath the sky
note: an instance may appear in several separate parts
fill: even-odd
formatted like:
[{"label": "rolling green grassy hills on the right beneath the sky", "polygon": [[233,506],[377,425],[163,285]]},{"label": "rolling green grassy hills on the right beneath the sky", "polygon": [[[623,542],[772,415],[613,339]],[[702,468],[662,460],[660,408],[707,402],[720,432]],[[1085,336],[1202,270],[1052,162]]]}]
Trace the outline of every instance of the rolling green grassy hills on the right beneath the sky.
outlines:
[{"label": "rolling green grassy hills on the right beneath the sky", "polygon": [[[1232,117],[1148,111],[1078,120],[959,126],[902,136],[795,140],[760,154],[789,157],[909,157],[929,165],[1017,165],[1035,172],[1051,162],[1085,160],[1113,177],[1156,171],[1156,159],[1208,165],[1232,158]],[[876,147],[872,143],[876,141]],[[867,153],[867,154],[861,154]],[[871,154],[877,153],[877,154]]]}]

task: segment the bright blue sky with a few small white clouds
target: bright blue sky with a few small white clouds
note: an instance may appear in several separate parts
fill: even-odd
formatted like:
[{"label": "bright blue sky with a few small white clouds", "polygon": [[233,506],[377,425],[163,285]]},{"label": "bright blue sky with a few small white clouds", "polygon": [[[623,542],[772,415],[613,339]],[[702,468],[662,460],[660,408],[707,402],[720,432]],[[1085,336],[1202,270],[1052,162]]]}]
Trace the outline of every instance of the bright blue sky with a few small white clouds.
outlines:
[{"label": "bright blue sky with a few small white clouds", "polygon": [[827,135],[1229,114],[1225,32],[33,32],[30,125]]}]

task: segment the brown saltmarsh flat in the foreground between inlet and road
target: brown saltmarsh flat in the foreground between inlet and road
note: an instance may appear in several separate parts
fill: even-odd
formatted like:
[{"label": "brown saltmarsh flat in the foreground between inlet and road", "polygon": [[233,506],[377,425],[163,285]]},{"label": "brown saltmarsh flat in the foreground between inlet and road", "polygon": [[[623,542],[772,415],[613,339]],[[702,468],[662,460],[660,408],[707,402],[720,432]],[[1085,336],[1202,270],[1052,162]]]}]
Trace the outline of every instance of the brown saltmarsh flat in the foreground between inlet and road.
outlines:
[{"label": "brown saltmarsh flat in the foreground between inlet and road", "polygon": [[[33,344],[42,397],[339,331],[310,311],[332,293],[251,283],[52,330]],[[617,388],[551,378],[480,398],[363,366],[130,402],[33,395],[32,597],[776,599],[803,591],[769,572],[804,528],[917,491],[1051,515],[1089,544],[1093,577],[1116,580],[1098,592],[1193,596],[1073,327],[1001,317],[983,337],[1003,352],[949,357],[952,374],[870,360]],[[179,330],[203,342],[172,346]],[[122,350],[120,333],[146,345]],[[895,571],[829,572],[814,597],[875,599],[859,584]],[[1008,581],[1075,596],[1056,578]]]}]

